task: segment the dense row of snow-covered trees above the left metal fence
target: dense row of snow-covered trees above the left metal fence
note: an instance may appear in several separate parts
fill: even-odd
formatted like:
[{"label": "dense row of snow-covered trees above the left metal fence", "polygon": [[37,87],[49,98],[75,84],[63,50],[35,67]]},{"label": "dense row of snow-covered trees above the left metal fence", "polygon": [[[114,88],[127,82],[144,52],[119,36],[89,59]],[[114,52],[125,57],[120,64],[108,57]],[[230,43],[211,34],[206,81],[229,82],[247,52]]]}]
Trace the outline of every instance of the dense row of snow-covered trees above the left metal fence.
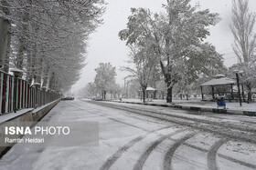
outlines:
[{"label": "dense row of snow-covered trees above the left metal fence", "polygon": [[[3,54],[10,52],[10,65],[22,69],[29,83],[67,89],[80,76],[87,39],[102,23],[104,4],[103,0],[3,0],[0,22],[8,21],[12,34]],[[5,35],[0,32],[0,38]]]}]

